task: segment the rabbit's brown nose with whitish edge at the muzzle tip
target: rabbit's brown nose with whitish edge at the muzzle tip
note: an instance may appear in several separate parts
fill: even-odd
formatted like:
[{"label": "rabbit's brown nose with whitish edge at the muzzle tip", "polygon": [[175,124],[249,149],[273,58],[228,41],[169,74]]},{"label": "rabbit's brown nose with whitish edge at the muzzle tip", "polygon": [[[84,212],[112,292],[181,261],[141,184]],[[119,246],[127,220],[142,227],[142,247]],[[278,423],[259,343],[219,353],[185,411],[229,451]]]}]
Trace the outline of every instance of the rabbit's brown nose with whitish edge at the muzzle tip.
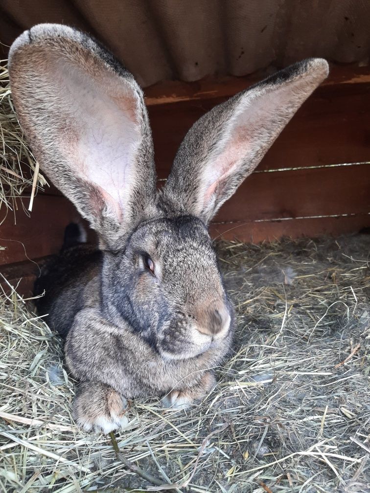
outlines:
[{"label": "rabbit's brown nose with whitish edge at the muzzle tip", "polygon": [[196,311],[195,319],[199,332],[215,339],[225,335],[230,327],[230,314],[224,305],[203,306]]}]

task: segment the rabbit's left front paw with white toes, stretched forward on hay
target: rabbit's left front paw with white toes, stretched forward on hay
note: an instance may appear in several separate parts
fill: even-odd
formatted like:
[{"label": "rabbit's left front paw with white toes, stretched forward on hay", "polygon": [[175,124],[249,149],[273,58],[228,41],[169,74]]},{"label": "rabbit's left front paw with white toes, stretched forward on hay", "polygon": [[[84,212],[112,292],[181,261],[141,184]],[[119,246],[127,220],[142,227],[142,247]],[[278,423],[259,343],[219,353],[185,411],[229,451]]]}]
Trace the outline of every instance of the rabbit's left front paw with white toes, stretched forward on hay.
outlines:
[{"label": "rabbit's left front paw with white toes, stretched forward on hay", "polygon": [[74,400],[74,419],[85,431],[104,434],[126,426],[127,401],[111,387],[83,382]]}]

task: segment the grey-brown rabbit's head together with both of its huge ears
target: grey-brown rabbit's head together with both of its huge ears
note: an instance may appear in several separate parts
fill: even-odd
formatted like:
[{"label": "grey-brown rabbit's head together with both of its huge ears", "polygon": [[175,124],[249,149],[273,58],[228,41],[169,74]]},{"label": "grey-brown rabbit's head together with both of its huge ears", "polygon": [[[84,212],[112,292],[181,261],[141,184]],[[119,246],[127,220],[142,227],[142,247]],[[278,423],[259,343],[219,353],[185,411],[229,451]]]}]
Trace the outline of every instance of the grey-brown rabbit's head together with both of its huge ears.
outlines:
[{"label": "grey-brown rabbit's head together with both of its huge ears", "polygon": [[19,121],[41,168],[96,230],[102,310],[164,357],[228,345],[233,312],[207,225],[328,74],[308,59],[203,115],[157,192],[143,93],[99,43],[41,24],[9,53]]}]

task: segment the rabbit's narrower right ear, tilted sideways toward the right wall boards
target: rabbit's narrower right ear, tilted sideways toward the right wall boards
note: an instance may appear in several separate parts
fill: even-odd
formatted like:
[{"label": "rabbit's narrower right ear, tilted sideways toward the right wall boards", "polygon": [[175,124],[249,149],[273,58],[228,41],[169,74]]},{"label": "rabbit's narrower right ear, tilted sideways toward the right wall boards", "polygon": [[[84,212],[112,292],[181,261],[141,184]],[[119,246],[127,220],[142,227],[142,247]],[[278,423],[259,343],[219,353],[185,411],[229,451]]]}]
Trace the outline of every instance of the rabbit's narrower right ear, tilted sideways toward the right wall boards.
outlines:
[{"label": "rabbit's narrower right ear, tilted sideways toward the right wall boards", "polygon": [[307,59],[203,115],[175,157],[162,190],[164,211],[210,221],[327,75],[325,60]]}]

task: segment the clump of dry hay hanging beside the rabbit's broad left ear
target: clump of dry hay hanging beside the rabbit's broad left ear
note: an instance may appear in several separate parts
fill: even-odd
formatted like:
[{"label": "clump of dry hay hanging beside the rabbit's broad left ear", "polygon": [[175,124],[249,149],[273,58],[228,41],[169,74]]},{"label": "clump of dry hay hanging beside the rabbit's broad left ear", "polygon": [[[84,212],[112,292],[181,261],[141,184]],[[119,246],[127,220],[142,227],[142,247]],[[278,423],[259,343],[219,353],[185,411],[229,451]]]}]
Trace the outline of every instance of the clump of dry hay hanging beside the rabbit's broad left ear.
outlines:
[{"label": "clump of dry hay hanging beside the rabbit's broad left ear", "polygon": [[14,112],[6,61],[0,60],[0,224],[8,211],[25,209],[21,200],[25,190],[29,207],[32,185],[45,184]]}]

